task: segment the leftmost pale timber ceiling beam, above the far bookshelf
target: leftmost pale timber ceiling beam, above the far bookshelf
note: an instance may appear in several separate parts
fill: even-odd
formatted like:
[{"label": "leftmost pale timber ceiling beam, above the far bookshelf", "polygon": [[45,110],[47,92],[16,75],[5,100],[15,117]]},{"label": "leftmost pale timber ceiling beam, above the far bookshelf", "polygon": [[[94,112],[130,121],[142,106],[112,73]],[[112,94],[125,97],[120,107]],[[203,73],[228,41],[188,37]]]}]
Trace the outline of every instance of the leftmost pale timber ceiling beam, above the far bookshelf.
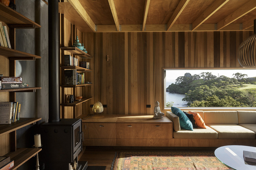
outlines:
[{"label": "leftmost pale timber ceiling beam, above the far bookshelf", "polygon": [[69,3],[73,6],[75,11],[79,13],[88,26],[95,32],[95,23],[93,20],[91,20],[90,16],[87,14],[79,0],[69,0]]}]

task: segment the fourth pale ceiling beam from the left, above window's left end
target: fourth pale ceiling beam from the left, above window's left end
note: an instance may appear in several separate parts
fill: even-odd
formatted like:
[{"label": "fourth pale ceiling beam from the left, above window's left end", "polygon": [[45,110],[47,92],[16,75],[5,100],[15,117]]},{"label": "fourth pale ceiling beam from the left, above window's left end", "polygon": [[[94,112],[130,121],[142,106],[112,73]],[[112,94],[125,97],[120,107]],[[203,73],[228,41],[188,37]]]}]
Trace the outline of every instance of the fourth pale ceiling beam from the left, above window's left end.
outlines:
[{"label": "fourth pale ceiling beam from the left, above window's left end", "polygon": [[177,7],[175,8],[175,11],[173,12],[170,20],[167,22],[167,31],[170,30],[174,22],[177,20],[177,18],[181,15],[182,11],[186,7],[190,0],[181,0]]}]

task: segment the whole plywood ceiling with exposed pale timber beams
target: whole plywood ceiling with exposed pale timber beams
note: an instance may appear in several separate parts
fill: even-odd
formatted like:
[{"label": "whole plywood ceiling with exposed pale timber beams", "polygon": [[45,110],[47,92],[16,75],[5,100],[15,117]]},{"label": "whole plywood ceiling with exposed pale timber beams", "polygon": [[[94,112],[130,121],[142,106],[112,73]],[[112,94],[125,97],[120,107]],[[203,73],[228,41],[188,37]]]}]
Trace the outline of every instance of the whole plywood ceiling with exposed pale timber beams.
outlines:
[{"label": "whole plywood ceiling with exposed pale timber beams", "polygon": [[81,32],[253,30],[256,0],[61,0]]}]

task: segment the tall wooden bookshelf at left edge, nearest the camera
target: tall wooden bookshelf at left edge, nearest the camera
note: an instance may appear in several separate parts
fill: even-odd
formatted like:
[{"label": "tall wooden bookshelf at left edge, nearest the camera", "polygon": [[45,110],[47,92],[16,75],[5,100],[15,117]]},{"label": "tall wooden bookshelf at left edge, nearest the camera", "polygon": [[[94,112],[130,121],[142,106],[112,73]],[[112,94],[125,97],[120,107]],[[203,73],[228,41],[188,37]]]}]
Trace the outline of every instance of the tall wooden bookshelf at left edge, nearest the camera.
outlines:
[{"label": "tall wooden bookshelf at left edge, nearest the camera", "polygon": [[[15,77],[16,60],[36,60],[41,58],[38,55],[16,50],[15,37],[17,28],[41,28],[41,26],[27,17],[12,10],[12,8],[0,3],[0,21],[7,27],[12,49],[0,46],[0,73],[4,76]],[[16,92],[35,92],[41,87],[1,89],[0,100],[6,102],[16,101]],[[11,124],[0,124],[0,156],[10,156],[14,160],[13,170],[27,162],[42,149],[38,148],[17,148],[16,130],[27,125],[34,124],[41,118],[20,118],[19,121]],[[5,140],[3,140],[5,139]]]}]

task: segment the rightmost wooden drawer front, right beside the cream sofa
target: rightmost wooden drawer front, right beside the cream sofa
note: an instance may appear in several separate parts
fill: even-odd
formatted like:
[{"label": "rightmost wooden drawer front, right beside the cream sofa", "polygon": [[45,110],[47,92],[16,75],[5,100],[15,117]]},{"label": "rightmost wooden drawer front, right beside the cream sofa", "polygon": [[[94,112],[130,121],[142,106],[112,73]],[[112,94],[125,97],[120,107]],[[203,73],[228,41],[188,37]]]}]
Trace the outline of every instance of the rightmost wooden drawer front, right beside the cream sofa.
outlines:
[{"label": "rightmost wooden drawer front, right beside the cream sofa", "polygon": [[144,139],[171,139],[172,123],[144,123]]}]

